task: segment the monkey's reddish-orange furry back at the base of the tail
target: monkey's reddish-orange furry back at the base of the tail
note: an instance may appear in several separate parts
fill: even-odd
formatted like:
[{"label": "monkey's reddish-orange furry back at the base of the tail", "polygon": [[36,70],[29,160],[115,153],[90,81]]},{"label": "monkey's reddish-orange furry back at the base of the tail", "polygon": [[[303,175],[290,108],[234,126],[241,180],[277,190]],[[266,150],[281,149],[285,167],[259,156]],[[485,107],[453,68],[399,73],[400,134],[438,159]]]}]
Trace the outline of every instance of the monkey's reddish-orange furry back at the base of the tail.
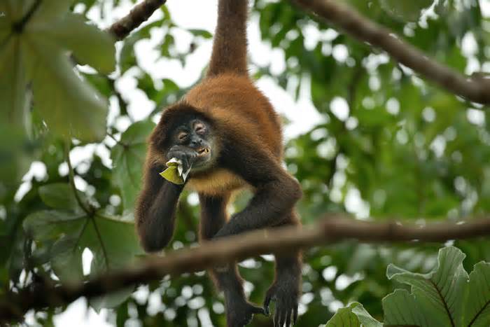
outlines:
[{"label": "monkey's reddish-orange furry back at the base of the tail", "polygon": [[279,116],[269,99],[248,76],[221,74],[207,77],[190,90],[186,102],[228,125],[245,139],[255,139],[276,159],[282,158],[282,131]]}]

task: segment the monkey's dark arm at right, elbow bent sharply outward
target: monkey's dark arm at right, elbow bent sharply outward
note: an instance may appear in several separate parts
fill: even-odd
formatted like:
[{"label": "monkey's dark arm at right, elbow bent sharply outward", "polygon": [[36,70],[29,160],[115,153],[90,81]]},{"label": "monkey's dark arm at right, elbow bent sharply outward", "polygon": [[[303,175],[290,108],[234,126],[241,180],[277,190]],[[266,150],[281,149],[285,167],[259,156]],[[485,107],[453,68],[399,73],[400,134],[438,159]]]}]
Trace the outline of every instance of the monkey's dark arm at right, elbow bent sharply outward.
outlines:
[{"label": "monkey's dark arm at right, elbow bent sharply outward", "polygon": [[[255,187],[255,195],[243,211],[232,216],[218,231],[216,237],[279,225],[302,195],[300,184],[271,153],[260,146],[244,143],[235,142],[230,146],[223,161],[225,167]],[[231,150],[233,148],[235,150]]]}]

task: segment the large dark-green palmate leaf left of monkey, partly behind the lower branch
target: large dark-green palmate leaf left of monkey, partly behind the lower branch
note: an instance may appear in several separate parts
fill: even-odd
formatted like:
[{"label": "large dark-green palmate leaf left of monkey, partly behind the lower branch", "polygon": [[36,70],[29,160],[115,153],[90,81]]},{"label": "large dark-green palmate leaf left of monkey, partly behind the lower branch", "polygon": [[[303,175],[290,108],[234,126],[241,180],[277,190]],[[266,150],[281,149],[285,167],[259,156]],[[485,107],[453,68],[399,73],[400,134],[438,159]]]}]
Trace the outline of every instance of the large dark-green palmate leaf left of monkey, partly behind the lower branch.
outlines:
[{"label": "large dark-green palmate leaf left of monkey, partly behind the lower branch", "polygon": [[[30,214],[23,227],[39,244],[52,244],[50,263],[62,282],[83,279],[84,249],[93,254],[92,276],[128,265],[143,253],[131,222],[98,211],[92,216],[81,211],[69,184],[42,186],[39,193],[43,202],[55,209]],[[113,307],[131,293],[132,288],[126,288],[94,300],[92,305],[94,309]]]}]

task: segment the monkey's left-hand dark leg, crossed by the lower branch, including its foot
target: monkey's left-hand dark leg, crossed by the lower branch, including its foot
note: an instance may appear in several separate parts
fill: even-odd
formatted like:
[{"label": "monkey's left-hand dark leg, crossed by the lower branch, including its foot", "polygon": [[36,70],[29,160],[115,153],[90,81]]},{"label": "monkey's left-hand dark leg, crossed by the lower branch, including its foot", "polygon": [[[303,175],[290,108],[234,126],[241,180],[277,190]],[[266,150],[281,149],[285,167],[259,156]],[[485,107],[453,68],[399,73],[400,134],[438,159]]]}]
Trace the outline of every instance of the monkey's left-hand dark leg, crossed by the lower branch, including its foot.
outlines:
[{"label": "monkey's left-hand dark leg, crossed by the lower branch, including its foot", "polygon": [[[200,194],[202,241],[216,235],[227,221],[226,204],[229,195],[208,196]],[[210,270],[216,286],[225,295],[226,317],[228,327],[242,327],[251,321],[253,314],[264,313],[261,307],[255,307],[247,302],[244,293],[243,279],[238,272],[237,264],[227,265]]]}]

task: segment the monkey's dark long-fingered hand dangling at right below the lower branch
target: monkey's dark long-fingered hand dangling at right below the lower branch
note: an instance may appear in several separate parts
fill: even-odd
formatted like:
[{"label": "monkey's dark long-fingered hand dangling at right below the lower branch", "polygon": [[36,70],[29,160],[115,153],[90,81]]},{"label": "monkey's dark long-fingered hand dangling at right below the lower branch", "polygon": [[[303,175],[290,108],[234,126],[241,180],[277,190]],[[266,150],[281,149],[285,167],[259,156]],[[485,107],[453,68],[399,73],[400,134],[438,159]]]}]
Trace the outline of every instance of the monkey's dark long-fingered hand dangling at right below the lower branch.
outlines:
[{"label": "monkey's dark long-fingered hand dangling at right below the lower branch", "polygon": [[299,295],[299,282],[294,274],[284,273],[276,278],[274,284],[267,290],[264,301],[266,314],[269,314],[270,301],[276,302],[274,327],[289,327],[291,323],[293,325],[296,323]]}]

